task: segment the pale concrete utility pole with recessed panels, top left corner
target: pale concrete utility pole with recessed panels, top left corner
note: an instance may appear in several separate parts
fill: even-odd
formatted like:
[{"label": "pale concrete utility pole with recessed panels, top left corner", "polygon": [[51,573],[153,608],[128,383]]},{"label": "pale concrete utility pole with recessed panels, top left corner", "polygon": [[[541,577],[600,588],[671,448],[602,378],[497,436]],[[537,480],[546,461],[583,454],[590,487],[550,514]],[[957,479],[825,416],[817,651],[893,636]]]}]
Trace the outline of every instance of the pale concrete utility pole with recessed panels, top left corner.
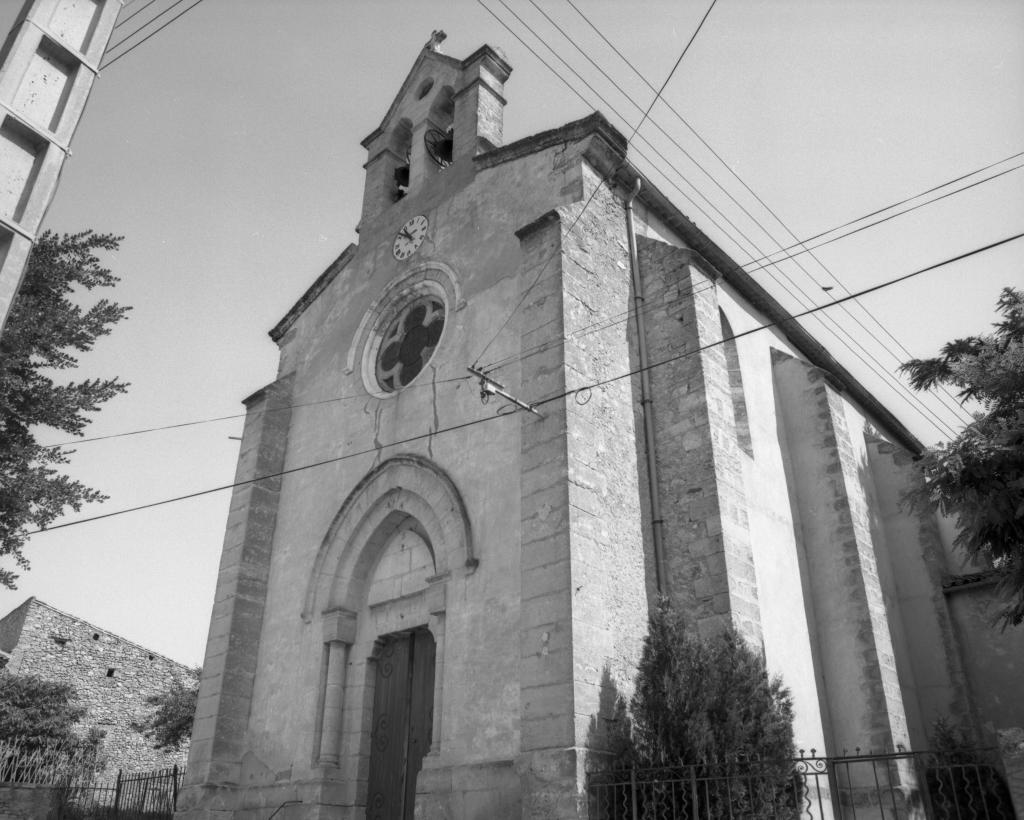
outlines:
[{"label": "pale concrete utility pole with recessed panels, top left corner", "polygon": [[123,0],[25,0],[0,48],[0,331]]}]

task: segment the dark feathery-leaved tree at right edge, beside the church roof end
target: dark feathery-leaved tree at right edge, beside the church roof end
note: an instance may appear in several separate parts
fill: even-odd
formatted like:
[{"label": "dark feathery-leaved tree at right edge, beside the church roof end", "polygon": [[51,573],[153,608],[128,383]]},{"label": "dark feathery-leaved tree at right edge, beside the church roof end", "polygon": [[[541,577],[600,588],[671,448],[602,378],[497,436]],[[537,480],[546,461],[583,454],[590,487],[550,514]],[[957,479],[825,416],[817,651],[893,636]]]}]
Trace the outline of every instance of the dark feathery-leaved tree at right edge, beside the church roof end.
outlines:
[{"label": "dark feathery-leaved tree at right edge, beside the church roof end", "polygon": [[992,333],[901,370],[916,390],[949,386],[981,404],[959,435],[925,452],[924,483],[908,498],[955,519],[954,546],[997,579],[993,622],[1006,629],[1024,621],[1024,291],[1005,288],[996,309]]}]

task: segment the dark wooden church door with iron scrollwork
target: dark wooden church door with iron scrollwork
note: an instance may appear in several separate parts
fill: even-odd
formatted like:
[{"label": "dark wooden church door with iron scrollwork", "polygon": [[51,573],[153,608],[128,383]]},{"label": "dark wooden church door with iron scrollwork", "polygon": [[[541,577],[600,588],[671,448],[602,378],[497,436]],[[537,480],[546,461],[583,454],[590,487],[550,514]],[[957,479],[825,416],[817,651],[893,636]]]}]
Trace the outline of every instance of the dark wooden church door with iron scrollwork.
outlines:
[{"label": "dark wooden church door with iron scrollwork", "polygon": [[368,820],[412,820],[433,705],[433,636],[427,630],[388,636],[374,685]]}]

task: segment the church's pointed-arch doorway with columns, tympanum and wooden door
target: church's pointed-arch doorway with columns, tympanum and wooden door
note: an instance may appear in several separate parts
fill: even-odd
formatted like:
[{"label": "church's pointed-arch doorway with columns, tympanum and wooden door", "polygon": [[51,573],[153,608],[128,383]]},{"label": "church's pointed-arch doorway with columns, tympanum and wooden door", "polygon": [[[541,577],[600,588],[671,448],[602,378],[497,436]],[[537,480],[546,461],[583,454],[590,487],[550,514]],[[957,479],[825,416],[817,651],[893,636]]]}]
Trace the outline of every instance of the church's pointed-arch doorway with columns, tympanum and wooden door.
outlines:
[{"label": "church's pointed-arch doorway with columns, tympanum and wooden door", "polygon": [[368,474],[322,544],[303,608],[325,646],[314,759],[356,817],[414,816],[442,753],[449,586],[476,565],[458,490],[417,456]]}]

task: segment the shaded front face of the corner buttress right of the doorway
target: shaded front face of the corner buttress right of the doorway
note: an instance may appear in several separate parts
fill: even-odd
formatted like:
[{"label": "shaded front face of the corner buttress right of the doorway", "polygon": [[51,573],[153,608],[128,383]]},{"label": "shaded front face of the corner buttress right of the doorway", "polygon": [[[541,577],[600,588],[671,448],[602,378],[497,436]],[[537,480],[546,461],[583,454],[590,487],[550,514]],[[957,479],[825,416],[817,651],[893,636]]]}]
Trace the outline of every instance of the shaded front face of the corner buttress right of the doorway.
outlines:
[{"label": "shaded front face of the corner buttress right of the doorway", "polygon": [[[516,232],[521,247],[523,350],[563,334],[562,221],[552,211]],[[536,280],[536,283],[535,283]],[[525,357],[520,384],[535,395],[565,389],[561,345]],[[521,422],[520,753],[522,817],[578,815],[572,725],[572,607],[565,400]]]}]

